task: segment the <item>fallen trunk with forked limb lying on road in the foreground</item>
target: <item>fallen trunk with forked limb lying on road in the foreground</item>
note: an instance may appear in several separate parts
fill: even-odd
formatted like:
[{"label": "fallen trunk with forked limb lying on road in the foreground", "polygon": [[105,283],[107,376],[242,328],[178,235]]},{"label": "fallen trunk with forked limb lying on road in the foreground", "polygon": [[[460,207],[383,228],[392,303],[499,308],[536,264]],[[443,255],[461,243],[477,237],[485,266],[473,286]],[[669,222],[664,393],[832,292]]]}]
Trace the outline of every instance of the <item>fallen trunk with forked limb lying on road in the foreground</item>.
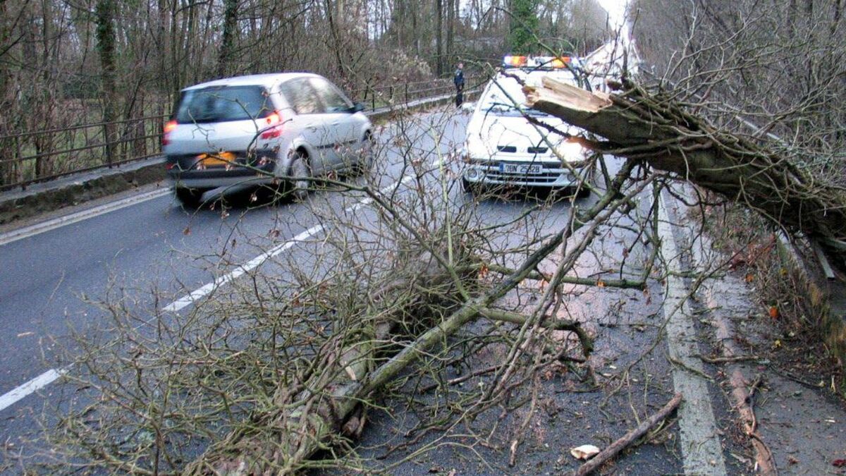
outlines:
[{"label": "fallen trunk with forked limb lying on road in the foreground", "polygon": [[[532,252],[519,268],[500,280],[490,290],[464,301],[459,305],[442,306],[442,311],[454,309],[441,322],[426,330],[415,340],[404,346],[396,355],[374,368],[378,357],[376,343],[385,342],[391,338],[391,330],[397,321],[395,313],[386,313],[364,319],[362,329],[350,333],[343,333],[349,339],[343,346],[327,346],[326,351],[319,352],[324,356],[318,370],[311,375],[298,393],[292,393],[288,379],[280,379],[273,405],[267,412],[251,415],[254,423],[248,430],[238,429],[226,438],[210,446],[205,453],[191,462],[184,470],[186,475],[197,474],[264,474],[264,473],[295,473],[304,468],[305,461],[316,451],[327,449],[332,440],[339,434],[360,432],[364,424],[355,411],[362,402],[371,400],[372,396],[384,388],[391,379],[397,377],[410,364],[424,357],[431,347],[443,342],[450,335],[483,316],[492,320],[520,324],[524,329],[549,328],[568,330],[580,340],[585,357],[593,349],[591,337],[587,335],[578,323],[572,321],[555,321],[539,312],[527,316],[508,313],[493,309],[492,306],[508,291],[513,290],[520,283],[530,277],[536,277],[539,263],[550,255],[558,246],[567,241],[577,230],[587,226],[581,246],[586,246],[596,236],[596,227],[612,217],[619,208],[629,205],[634,196],[643,191],[650,183],[644,180],[625,195],[620,194],[621,186],[629,179],[634,163],[627,163],[615,176],[607,193],[588,210],[578,213],[578,218],[570,226],[553,235]],[[378,202],[379,197],[374,196]],[[387,204],[386,204],[387,206]],[[461,271],[461,267],[444,267],[443,260],[437,260],[431,255],[423,260],[426,266],[424,273],[415,279],[423,289],[433,285],[448,285],[461,288],[458,282],[451,282],[451,277]],[[552,286],[574,266],[574,260],[566,260],[552,276]],[[462,273],[464,277],[468,274]],[[398,285],[398,287],[408,287]],[[626,286],[621,286],[626,287]],[[441,296],[453,296],[458,299],[459,291],[441,291]],[[424,303],[424,306],[431,305]],[[420,314],[419,302],[406,305],[400,309],[402,313]],[[368,337],[369,335],[369,337]]]}]

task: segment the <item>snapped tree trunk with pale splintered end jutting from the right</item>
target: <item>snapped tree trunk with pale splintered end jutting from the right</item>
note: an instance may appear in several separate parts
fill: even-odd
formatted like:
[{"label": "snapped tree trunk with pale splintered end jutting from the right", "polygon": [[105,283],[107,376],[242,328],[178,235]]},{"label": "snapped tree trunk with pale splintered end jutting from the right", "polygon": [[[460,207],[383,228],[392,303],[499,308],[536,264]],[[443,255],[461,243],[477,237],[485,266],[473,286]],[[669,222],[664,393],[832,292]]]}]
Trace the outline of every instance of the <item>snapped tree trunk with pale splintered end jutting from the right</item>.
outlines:
[{"label": "snapped tree trunk with pale splintered end jutting from the right", "polygon": [[815,181],[747,137],[717,130],[669,98],[636,86],[608,95],[544,78],[541,87],[525,92],[531,108],[607,140],[574,139],[585,147],[678,174],[846,256],[846,192]]}]

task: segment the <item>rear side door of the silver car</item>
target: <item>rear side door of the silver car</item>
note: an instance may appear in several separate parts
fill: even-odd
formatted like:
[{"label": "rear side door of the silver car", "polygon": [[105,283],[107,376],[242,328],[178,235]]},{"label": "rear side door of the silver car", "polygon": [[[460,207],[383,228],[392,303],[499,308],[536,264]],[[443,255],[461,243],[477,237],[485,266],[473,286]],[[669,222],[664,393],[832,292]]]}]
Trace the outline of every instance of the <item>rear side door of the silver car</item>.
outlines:
[{"label": "rear side door of the silver car", "polygon": [[291,128],[308,143],[315,157],[310,158],[311,172],[322,174],[334,168],[335,143],[326,126],[326,107],[307,76],[285,81],[281,86],[285,99],[294,108]]}]

